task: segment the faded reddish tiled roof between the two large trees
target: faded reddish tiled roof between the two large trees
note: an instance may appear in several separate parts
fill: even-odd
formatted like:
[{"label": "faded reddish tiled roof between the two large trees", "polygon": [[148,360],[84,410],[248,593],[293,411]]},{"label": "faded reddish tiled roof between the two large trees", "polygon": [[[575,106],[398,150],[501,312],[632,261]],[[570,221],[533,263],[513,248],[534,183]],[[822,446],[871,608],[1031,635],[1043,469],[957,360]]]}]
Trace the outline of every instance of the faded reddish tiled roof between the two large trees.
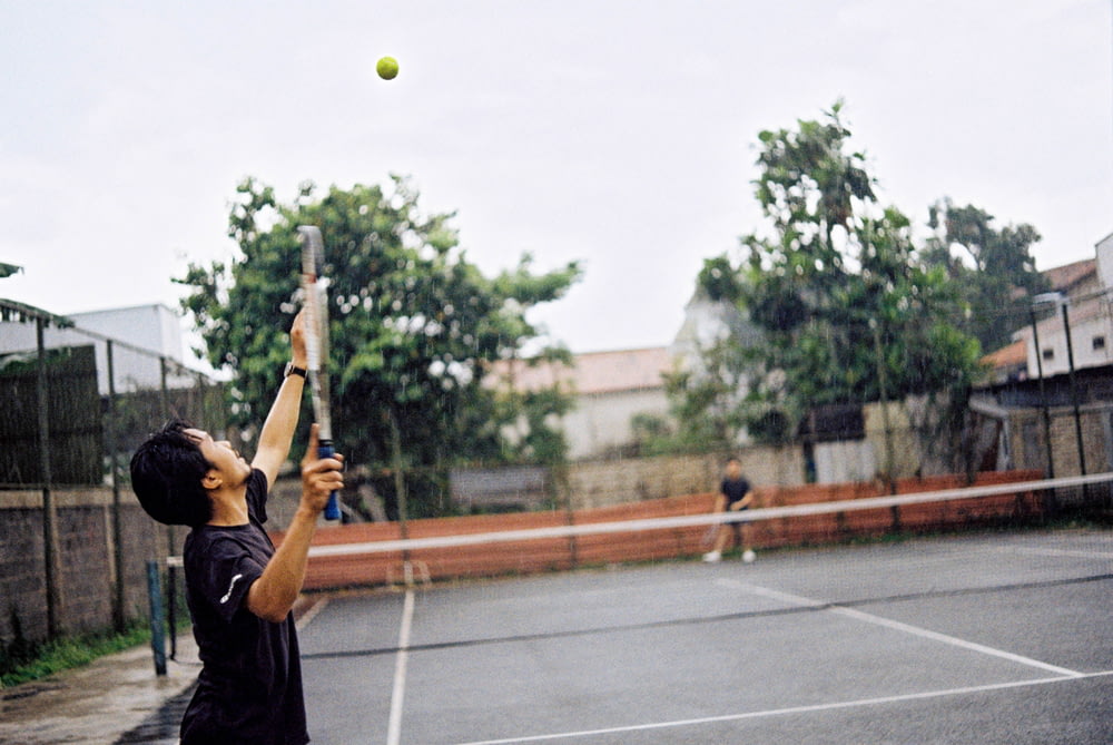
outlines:
[{"label": "faded reddish tiled roof between the two large trees", "polygon": [[659,389],[664,385],[661,375],[673,367],[669,350],[663,346],[577,354],[572,365],[541,363],[529,366],[522,360],[513,361],[513,365],[511,361],[502,361],[494,365],[494,372],[505,376],[513,371],[514,386],[520,391],[538,391],[562,383],[577,393],[590,395]]}]

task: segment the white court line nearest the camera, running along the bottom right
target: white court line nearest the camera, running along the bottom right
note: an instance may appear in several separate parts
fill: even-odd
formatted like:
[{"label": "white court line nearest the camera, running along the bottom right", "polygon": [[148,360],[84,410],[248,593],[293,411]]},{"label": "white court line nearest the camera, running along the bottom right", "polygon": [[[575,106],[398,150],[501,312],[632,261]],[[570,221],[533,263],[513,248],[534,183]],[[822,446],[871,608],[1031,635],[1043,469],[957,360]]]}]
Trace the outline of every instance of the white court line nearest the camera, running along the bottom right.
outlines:
[{"label": "white court line nearest the camera, running along the bottom right", "polygon": [[649,729],[666,729],[668,727],[686,727],[699,724],[716,724],[719,722],[740,722],[742,719],[757,719],[771,716],[787,716],[791,714],[810,714],[814,712],[829,712],[835,709],[856,708],[865,706],[878,706],[881,704],[897,704],[902,702],[924,700],[928,698],[942,698],[946,696],[962,696],[967,694],[985,693],[991,690],[1006,690],[1008,688],[1024,688],[1031,686],[1042,686],[1052,683],[1074,682],[1081,678],[1097,678],[1113,675],[1113,670],[1101,673],[1086,673],[1078,677],[1055,676],[1052,678],[1034,678],[1031,680],[1013,680],[1011,683],[991,683],[983,686],[965,686],[962,688],[944,688],[939,690],[925,690],[916,694],[900,694],[897,696],[880,696],[877,698],[858,698],[847,702],[834,702],[830,704],[810,704],[805,706],[789,706],[786,708],[766,709],[761,712],[746,712],[743,714],[722,714],[718,716],[698,717],[691,719],[673,719],[671,722],[652,722],[649,724],[636,724],[622,727],[602,727],[599,729],[581,729],[579,732],[560,732],[548,735],[526,735],[524,737],[505,737],[502,739],[476,739],[456,745],[511,745],[512,743],[540,743],[555,739],[575,739],[580,737],[595,737],[598,735],[614,735],[628,732],[646,732]]}]

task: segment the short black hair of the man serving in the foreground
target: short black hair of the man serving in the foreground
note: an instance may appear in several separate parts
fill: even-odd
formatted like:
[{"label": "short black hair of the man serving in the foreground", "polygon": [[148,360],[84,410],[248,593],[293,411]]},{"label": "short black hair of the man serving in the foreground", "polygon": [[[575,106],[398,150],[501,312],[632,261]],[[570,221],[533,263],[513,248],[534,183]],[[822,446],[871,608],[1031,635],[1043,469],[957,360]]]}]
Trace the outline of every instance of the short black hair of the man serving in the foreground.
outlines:
[{"label": "short black hair of the man serving in the foreground", "polygon": [[203,526],[213,519],[213,500],[201,486],[213,464],[185,430],[180,419],[168,422],[131,457],[131,490],[144,510],[168,526]]}]

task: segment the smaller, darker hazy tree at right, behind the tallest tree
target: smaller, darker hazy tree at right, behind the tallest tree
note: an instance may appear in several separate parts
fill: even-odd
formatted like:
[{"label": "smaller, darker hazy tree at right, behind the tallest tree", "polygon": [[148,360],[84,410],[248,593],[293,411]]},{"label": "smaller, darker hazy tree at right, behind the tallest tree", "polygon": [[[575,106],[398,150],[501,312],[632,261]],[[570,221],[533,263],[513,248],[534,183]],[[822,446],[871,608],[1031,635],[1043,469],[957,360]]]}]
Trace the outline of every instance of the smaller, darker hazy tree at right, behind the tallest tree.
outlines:
[{"label": "smaller, darker hazy tree at right, behind the tallest tree", "polygon": [[1040,233],[1026,223],[997,229],[993,215],[949,198],[932,205],[928,216],[934,235],[924,261],[945,271],[959,295],[955,324],[987,352],[1006,346],[1027,323],[1031,296],[1048,288],[1032,256]]}]

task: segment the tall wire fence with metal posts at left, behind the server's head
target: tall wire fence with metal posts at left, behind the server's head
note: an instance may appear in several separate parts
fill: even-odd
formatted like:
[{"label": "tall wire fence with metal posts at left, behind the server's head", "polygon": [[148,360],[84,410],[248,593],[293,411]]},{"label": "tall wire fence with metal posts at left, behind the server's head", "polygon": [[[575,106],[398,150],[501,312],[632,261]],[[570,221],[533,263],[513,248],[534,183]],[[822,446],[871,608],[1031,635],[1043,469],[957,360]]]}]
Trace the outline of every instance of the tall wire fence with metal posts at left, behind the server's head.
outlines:
[{"label": "tall wire fence with metal posts at left, behind the server's head", "polygon": [[37,308],[0,320],[0,645],[124,628],[185,538],[142,512],[130,455],[173,418],[223,425],[223,385]]}]

